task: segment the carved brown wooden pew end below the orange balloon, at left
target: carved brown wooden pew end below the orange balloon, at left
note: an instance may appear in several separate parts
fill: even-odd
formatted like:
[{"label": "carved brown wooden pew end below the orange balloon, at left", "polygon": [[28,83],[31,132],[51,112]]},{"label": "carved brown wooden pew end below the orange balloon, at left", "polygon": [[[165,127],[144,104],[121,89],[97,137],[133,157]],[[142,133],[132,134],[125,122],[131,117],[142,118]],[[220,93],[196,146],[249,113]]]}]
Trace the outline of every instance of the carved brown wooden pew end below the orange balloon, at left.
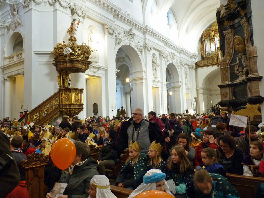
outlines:
[{"label": "carved brown wooden pew end below the orange balloon, at left", "polygon": [[42,153],[32,153],[27,156],[27,160],[21,161],[21,166],[25,168],[27,190],[31,198],[45,198],[44,168],[49,157],[42,156]]}]

